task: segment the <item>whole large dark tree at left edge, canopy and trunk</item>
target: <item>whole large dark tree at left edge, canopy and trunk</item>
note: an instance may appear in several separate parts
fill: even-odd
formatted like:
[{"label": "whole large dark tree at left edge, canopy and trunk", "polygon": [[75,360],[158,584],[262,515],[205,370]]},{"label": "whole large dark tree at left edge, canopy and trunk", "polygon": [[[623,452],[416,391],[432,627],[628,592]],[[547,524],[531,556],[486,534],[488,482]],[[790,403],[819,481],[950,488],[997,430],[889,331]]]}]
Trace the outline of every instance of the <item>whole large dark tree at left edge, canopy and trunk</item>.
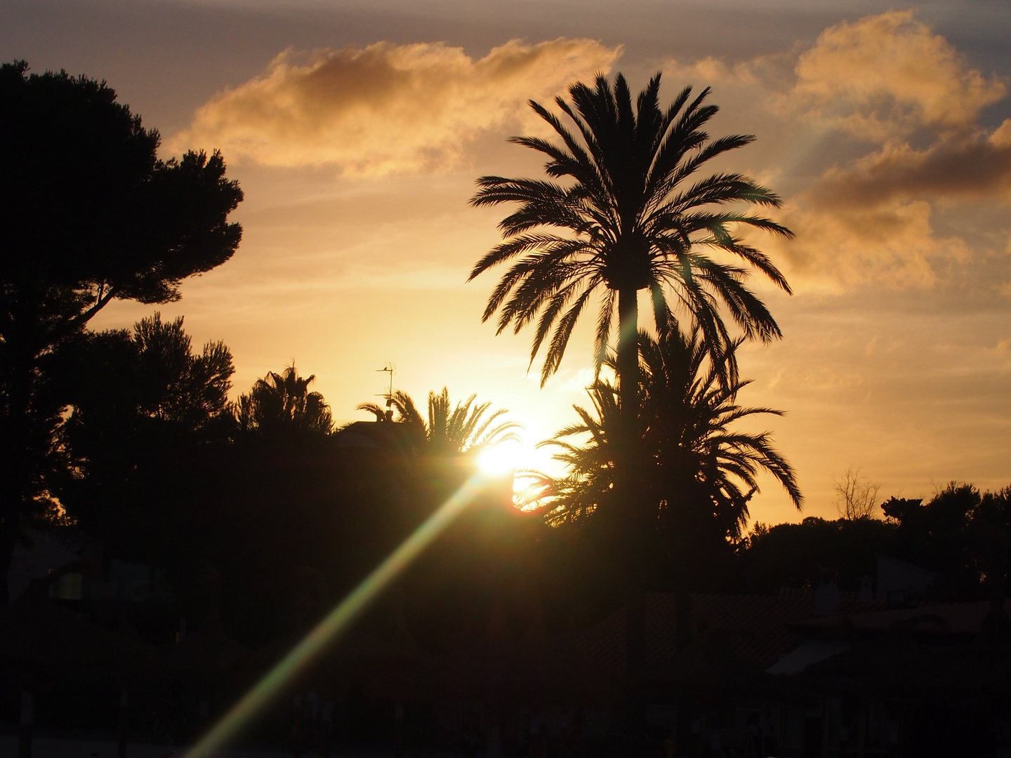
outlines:
[{"label": "whole large dark tree at left edge, canopy and trunk", "polygon": [[54,352],[113,299],[179,299],[242,238],[221,155],[159,143],[104,82],[0,66],[0,570],[67,464]]}]

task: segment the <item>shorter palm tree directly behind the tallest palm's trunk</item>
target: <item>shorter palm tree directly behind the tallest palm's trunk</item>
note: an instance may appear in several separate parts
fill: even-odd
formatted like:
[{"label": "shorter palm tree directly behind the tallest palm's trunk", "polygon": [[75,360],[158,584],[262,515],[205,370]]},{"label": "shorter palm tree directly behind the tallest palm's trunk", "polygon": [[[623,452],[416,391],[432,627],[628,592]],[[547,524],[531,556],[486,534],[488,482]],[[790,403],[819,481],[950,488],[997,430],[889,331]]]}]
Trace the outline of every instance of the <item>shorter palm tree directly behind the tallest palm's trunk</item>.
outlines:
[{"label": "shorter palm tree directly behind the tallest palm's trunk", "polygon": [[[771,474],[798,508],[803,504],[794,470],[769,433],[735,429],[749,416],[782,415],[738,404],[737,393],[750,382],[726,373],[739,345],[731,343],[713,361],[699,328],[684,336],[670,324],[657,340],[639,334],[642,409],[636,435],[646,459],[642,494],[656,530],[649,537],[667,546],[676,569],[679,646],[691,635],[691,566],[705,565],[707,546],[740,536],[748,502],[758,490],[757,475]],[[618,368],[614,357],[608,365]],[[557,448],[555,459],[568,469],[563,478],[545,478],[546,517],[554,526],[578,525],[611,506],[617,458],[612,441],[618,437],[621,400],[607,380],[595,381],[588,391],[592,410],[574,406],[579,422],[541,443]],[[589,439],[583,445],[569,442],[584,435]]]}]

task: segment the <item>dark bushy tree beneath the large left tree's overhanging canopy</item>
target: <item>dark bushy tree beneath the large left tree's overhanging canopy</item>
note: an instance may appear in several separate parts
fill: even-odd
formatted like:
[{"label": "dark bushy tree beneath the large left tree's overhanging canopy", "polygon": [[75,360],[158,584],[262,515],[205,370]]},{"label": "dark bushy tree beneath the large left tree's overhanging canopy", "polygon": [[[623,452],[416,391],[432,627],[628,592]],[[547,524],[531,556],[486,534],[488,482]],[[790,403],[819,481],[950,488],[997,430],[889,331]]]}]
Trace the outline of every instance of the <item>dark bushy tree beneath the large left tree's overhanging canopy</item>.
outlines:
[{"label": "dark bushy tree beneath the large left tree's overhanging canopy", "polygon": [[[132,330],[86,333],[57,354],[68,403],[60,429],[73,475],[56,493],[86,531],[129,555],[165,531],[157,523],[194,478],[192,460],[228,439],[232,353],[221,342],[194,351],[180,316],[159,313]],[[182,498],[180,498],[182,499]]]}]

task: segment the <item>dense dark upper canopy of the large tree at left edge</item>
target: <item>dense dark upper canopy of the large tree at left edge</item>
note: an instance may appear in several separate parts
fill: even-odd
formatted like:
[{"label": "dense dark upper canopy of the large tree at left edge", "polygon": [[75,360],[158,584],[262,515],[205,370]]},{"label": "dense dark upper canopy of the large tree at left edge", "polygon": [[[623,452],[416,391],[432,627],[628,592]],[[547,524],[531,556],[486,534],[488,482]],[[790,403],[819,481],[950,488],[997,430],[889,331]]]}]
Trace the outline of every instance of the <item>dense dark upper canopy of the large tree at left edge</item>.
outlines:
[{"label": "dense dark upper canopy of the large tree at left edge", "polygon": [[161,137],[84,76],[0,67],[0,335],[44,349],[115,298],[178,300],[239,247],[243,199],[219,153],[158,158]]}]

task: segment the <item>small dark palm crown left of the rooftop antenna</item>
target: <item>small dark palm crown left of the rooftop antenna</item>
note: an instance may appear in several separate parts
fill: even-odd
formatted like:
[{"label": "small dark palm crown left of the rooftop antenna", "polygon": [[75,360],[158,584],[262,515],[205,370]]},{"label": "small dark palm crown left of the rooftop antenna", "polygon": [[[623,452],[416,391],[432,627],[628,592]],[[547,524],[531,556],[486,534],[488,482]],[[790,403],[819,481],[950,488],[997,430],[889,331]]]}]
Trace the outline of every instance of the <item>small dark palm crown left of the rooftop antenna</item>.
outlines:
[{"label": "small dark palm crown left of the rooftop antenna", "polygon": [[269,372],[257,379],[248,395],[239,396],[235,415],[243,431],[299,429],[329,435],[334,429],[330,405],[308,386],[315,374],[298,376],[294,366],[280,374]]}]

